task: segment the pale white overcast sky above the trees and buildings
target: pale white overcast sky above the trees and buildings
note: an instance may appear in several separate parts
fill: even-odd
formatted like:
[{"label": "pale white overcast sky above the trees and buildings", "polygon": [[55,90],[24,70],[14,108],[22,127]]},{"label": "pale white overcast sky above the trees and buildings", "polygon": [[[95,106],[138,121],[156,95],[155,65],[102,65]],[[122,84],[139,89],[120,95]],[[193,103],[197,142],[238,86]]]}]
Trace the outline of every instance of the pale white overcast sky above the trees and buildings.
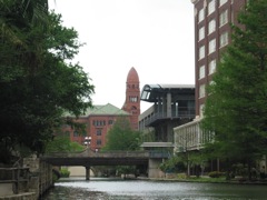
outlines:
[{"label": "pale white overcast sky above the trees and buildings", "polygon": [[[73,27],[79,62],[96,87],[93,104],[121,108],[131,67],[145,84],[195,83],[194,6],[190,0],[49,0]],[[150,103],[141,102],[141,112]]]}]

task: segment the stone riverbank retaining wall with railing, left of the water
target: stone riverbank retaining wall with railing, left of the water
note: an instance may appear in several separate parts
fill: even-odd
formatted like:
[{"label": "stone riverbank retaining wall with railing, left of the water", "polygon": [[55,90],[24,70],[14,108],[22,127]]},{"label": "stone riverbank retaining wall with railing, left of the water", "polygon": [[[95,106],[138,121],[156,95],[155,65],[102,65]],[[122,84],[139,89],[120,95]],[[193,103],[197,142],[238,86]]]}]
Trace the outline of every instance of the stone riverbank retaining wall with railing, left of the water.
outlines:
[{"label": "stone riverbank retaining wall with railing, left of the water", "polygon": [[0,169],[0,200],[37,200],[52,186],[52,166],[37,157],[24,158],[23,168]]}]

